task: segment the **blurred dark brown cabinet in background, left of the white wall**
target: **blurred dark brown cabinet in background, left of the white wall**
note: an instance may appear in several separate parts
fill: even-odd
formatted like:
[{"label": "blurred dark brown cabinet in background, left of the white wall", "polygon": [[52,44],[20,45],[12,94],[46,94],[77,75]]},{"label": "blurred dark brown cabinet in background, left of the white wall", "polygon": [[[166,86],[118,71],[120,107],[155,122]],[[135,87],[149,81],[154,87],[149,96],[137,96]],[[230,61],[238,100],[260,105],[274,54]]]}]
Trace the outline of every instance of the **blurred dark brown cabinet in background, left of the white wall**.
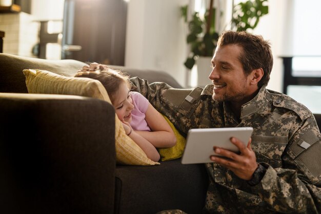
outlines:
[{"label": "blurred dark brown cabinet in background, left of the white wall", "polygon": [[62,59],[124,65],[127,2],[66,0]]}]

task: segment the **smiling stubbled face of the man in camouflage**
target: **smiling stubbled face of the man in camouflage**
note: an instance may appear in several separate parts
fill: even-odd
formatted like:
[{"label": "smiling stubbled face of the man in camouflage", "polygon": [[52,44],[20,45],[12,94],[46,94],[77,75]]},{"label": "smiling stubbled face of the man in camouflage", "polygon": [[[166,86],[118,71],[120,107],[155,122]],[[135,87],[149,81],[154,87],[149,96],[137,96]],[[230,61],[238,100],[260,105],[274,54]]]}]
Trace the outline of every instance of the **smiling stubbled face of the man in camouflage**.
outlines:
[{"label": "smiling stubbled face of the man in camouflage", "polygon": [[214,84],[213,100],[230,101],[242,105],[252,99],[251,75],[245,76],[243,65],[239,61],[240,54],[242,54],[242,47],[238,45],[216,48],[211,61],[212,72],[209,76]]}]

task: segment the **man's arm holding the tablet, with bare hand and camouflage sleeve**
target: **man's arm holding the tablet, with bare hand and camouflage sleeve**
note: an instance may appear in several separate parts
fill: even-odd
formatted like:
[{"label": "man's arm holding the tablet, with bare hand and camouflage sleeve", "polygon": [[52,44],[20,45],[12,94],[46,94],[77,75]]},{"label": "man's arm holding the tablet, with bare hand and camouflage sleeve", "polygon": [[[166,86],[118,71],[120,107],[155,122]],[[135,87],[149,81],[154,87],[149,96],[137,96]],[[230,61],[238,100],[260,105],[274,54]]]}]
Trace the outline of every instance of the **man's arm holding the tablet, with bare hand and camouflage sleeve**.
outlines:
[{"label": "man's arm holding the tablet, with bare hand and camouflage sleeve", "polygon": [[[289,148],[283,154],[283,167],[273,168],[260,163],[264,173],[252,186],[269,204],[269,209],[285,213],[321,213],[321,135],[312,116],[299,128]],[[236,176],[251,180],[257,169],[255,154],[237,139],[232,139],[240,154],[215,148],[215,152],[229,159],[211,157],[216,163],[230,169]],[[249,142],[250,144],[250,142]]]}]

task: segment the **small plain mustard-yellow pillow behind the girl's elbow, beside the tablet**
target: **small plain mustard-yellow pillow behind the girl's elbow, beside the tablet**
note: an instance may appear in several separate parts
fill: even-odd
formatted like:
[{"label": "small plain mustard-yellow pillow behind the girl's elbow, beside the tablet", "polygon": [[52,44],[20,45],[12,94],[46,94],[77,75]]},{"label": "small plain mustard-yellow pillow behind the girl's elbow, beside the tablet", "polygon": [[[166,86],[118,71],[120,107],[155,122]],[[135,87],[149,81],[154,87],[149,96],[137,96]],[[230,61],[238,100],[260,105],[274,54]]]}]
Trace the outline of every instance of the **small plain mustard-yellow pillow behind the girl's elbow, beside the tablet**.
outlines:
[{"label": "small plain mustard-yellow pillow behind the girl's elbow, beside the tablet", "polygon": [[166,116],[164,116],[164,118],[174,131],[174,134],[176,136],[176,144],[171,148],[159,148],[158,152],[160,154],[160,160],[169,161],[169,160],[178,159],[183,155],[185,145],[186,145],[186,139],[178,132],[178,130],[175,128],[172,122],[168,120]]}]

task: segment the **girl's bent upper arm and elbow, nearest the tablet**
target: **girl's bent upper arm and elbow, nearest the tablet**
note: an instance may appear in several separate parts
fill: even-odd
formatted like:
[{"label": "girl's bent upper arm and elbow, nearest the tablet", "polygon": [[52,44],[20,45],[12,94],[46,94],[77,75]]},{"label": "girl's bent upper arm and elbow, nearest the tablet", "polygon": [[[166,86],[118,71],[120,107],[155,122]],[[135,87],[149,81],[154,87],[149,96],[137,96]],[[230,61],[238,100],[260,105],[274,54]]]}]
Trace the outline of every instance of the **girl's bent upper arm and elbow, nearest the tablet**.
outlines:
[{"label": "girl's bent upper arm and elbow, nearest the tablet", "polygon": [[136,131],[156,148],[168,148],[176,144],[174,131],[150,103],[145,113],[145,120],[152,131]]}]

